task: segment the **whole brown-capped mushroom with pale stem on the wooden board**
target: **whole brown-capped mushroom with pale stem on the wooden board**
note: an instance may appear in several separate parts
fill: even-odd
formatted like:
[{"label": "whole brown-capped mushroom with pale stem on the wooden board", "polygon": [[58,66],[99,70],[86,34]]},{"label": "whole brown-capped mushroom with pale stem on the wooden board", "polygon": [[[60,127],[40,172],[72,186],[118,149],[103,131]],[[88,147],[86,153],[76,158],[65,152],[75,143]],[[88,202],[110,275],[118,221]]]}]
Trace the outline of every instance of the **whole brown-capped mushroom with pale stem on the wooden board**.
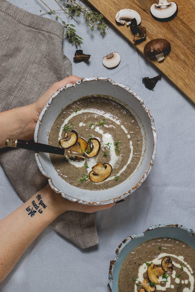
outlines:
[{"label": "whole brown-capped mushroom with pale stem on the wooden board", "polygon": [[164,53],[168,54],[171,50],[171,45],[166,39],[153,39],[144,47],[144,55],[146,58],[156,57],[157,61],[162,61]]}]

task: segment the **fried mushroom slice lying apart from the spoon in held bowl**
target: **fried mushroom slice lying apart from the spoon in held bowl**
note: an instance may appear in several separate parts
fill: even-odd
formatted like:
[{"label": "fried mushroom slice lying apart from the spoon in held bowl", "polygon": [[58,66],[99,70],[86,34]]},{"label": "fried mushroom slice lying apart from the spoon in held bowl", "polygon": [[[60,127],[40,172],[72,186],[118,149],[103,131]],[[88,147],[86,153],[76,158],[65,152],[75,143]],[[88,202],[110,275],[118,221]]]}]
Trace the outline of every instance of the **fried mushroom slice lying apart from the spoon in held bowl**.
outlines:
[{"label": "fried mushroom slice lying apart from the spoon in held bowl", "polygon": [[89,178],[93,183],[103,182],[112,172],[112,166],[109,163],[102,163],[101,161],[92,167],[89,173]]}]

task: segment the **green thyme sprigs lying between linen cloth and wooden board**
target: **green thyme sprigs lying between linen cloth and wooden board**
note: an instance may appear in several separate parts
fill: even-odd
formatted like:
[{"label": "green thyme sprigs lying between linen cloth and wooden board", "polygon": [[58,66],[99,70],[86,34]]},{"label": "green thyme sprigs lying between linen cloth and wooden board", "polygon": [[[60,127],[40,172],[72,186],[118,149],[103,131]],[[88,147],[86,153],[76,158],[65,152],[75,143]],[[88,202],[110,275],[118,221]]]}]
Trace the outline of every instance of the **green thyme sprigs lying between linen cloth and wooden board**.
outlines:
[{"label": "green thyme sprigs lying between linen cloth and wooden board", "polygon": [[[41,15],[53,14],[56,20],[61,20],[62,24],[65,26],[65,37],[67,37],[69,43],[75,43],[75,46],[82,44],[83,38],[77,34],[74,24],[67,24],[56,12],[63,11],[68,18],[72,18],[75,22],[77,22],[77,20],[74,16],[80,17],[80,15],[82,15],[86,20],[86,25],[89,26],[92,31],[94,31],[95,27],[99,29],[101,35],[106,33],[106,29],[108,30],[106,23],[103,21],[103,15],[93,11],[83,0],[84,6],[81,6],[74,0],[67,0],[69,3],[63,4],[62,6],[57,0],[54,0],[61,8],[60,10],[51,9],[43,0],[40,1],[49,9],[48,12],[42,13]],[[63,0],[60,1],[62,2]],[[42,9],[40,12],[41,11]]]}]

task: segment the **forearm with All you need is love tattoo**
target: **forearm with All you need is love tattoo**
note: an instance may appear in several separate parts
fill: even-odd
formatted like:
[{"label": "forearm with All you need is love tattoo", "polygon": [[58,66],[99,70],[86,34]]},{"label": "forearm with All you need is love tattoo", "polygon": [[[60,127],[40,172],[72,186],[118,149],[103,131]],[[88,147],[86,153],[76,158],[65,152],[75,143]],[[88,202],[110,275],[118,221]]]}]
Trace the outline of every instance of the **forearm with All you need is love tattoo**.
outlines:
[{"label": "forearm with All you need is love tattoo", "polygon": [[61,213],[53,191],[46,186],[0,221],[0,282],[26,248]]}]

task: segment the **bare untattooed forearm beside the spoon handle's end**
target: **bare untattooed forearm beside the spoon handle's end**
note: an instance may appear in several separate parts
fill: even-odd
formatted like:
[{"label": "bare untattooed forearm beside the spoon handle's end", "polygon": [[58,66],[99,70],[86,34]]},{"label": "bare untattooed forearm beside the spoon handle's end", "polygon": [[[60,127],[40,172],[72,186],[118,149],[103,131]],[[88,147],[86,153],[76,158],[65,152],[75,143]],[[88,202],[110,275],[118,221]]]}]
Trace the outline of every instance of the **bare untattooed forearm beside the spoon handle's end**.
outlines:
[{"label": "bare untattooed forearm beside the spoon handle's end", "polygon": [[18,107],[0,113],[0,148],[5,147],[6,138],[33,139],[36,126],[36,122],[32,117],[33,105]]}]

